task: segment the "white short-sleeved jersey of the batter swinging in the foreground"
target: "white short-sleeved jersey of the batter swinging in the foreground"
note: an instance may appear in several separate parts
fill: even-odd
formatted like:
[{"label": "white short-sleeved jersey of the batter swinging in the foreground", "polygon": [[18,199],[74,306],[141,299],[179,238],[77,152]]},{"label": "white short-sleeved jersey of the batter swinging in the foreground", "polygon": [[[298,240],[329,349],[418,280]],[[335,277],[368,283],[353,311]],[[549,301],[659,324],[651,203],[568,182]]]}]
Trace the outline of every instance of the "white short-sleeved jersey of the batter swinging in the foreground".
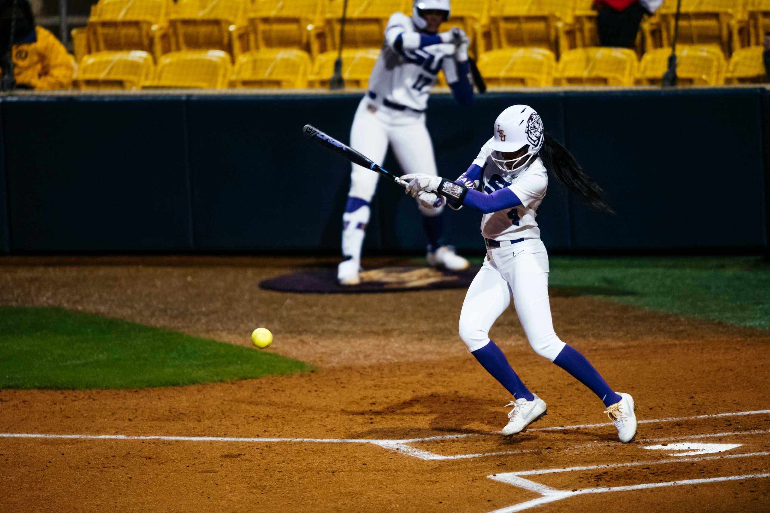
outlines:
[{"label": "white short-sleeved jersey of the batter swinging in the foreground", "polygon": [[487,194],[507,187],[514,192],[521,205],[507,208],[481,217],[481,235],[496,241],[513,241],[520,238],[540,238],[540,228],[537,227],[537,207],[545,197],[548,187],[548,175],[540,157],[524,170],[514,169],[504,172],[498,168],[490,153],[489,145],[492,139],[481,147],[474,164],[484,169],[482,188]]}]

